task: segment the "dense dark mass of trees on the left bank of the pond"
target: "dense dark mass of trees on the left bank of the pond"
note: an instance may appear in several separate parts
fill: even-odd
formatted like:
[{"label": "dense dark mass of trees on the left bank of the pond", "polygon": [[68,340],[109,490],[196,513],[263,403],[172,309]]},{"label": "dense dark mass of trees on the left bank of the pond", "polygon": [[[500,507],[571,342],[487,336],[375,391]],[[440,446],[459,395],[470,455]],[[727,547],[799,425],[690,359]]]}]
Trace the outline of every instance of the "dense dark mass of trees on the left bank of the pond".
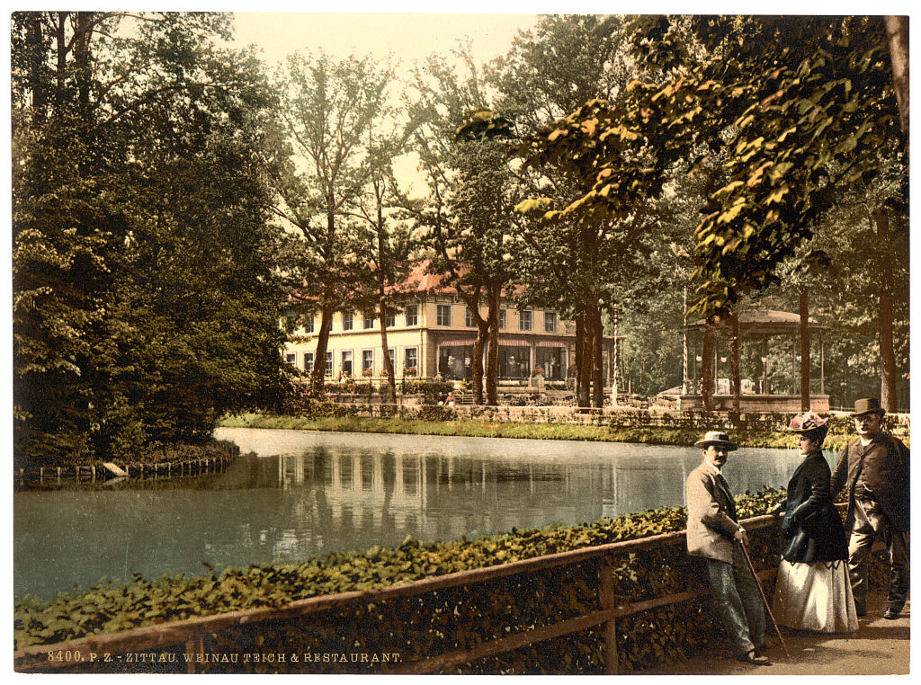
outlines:
[{"label": "dense dark mass of trees on the left bank of the pond", "polygon": [[281,392],[270,104],[226,16],[13,16],[20,463],[198,440]]}]

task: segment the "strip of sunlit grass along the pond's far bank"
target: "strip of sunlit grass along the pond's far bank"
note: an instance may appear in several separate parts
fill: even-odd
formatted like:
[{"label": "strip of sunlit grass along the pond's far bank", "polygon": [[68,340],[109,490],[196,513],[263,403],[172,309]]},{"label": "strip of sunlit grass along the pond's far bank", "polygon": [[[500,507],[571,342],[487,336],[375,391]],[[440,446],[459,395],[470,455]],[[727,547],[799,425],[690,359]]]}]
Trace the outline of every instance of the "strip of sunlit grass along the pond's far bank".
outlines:
[{"label": "strip of sunlit grass along the pond's far bank", "polygon": [[[700,432],[687,428],[649,426],[624,428],[610,425],[490,422],[456,419],[420,419],[277,416],[248,413],[227,417],[221,425],[242,428],[277,428],[304,431],[342,431],[349,433],[393,433],[402,435],[461,435],[467,437],[513,437],[534,440],[583,440],[593,442],[643,443],[647,445],[694,445]],[[796,447],[795,436],[782,431],[741,432],[731,435],[740,447]],[[847,436],[829,435],[826,447],[839,449]],[[841,442],[841,446],[835,443]]]}]

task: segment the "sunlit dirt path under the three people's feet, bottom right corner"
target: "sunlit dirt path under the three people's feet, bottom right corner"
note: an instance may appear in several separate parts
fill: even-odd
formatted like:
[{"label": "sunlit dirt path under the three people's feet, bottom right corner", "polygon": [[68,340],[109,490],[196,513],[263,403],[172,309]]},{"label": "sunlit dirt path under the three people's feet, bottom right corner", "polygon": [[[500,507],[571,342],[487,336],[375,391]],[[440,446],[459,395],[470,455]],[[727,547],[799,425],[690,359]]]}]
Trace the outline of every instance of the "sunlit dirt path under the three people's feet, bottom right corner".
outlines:
[{"label": "sunlit dirt path under the three people's feet, bottom right corner", "polygon": [[641,671],[638,675],[884,676],[909,672],[911,604],[895,621],[882,618],[885,599],[871,594],[857,633],[823,634],[781,628],[789,656],[769,626],[770,666],[736,661],[725,651]]}]

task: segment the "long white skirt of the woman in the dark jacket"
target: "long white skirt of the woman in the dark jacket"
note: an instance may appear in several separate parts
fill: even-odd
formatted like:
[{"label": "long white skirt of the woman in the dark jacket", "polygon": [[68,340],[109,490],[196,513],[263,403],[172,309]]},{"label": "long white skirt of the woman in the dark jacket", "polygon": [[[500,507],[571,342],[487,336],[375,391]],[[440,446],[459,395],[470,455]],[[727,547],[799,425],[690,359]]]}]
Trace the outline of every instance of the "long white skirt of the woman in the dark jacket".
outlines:
[{"label": "long white skirt of the woman in the dark jacket", "polygon": [[780,560],[774,591],[778,625],[820,633],[854,633],[857,610],[847,563],[789,563]]}]

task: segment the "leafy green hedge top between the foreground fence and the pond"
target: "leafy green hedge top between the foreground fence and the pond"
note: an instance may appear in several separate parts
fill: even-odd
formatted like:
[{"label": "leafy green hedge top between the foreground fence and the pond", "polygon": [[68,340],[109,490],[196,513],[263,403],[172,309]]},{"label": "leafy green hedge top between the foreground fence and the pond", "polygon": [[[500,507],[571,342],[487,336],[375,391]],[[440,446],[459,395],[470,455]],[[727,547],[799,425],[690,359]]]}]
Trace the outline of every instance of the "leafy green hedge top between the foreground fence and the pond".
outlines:
[{"label": "leafy green hedge top between the foreground fence and the pond", "polygon": [[[766,512],[783,493],[773,489],[745,493],[740,516]],[[115,633],[163,621],[254,607],[281,607],[297,599],[330,595],[432,575],[529,559],[618,540],[632,540],[685,527],[683,507],[600,518],[590,524],[518,529],[476,540],[420,542],[407,538],[396,548],[335,552],[303,563],[262,563],[185,578],[134,575],[127,585],[105,581],[86,591],[59,594],[50,602],[27,596],[17,600],[17,648],[63,642],[88,634]]]}]

